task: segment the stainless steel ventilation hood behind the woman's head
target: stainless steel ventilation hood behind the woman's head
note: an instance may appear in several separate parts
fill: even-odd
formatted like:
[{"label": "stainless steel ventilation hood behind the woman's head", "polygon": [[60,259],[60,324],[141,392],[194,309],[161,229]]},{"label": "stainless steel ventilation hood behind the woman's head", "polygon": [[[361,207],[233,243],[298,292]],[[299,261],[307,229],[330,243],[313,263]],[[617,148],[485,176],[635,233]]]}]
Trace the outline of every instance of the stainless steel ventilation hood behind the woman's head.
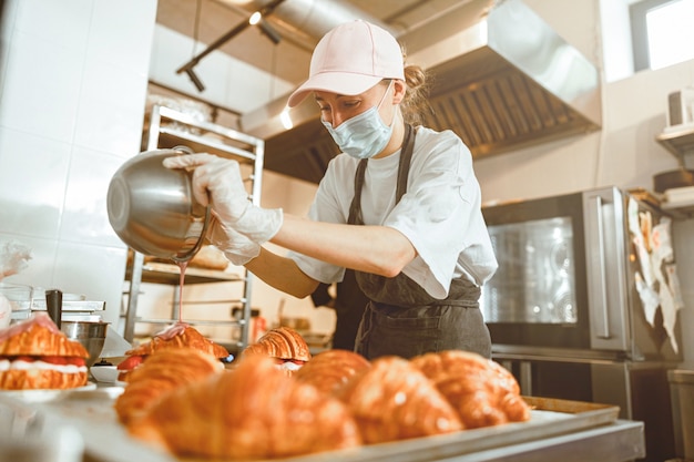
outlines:
[{"label": "stainless steel ventilation hood behind the woman's head", "polygon": [[[521,0],[471,0],[395,34],[431,75],[426,125],[455,131],[476,158],[600,129],[598,70]],[[317,183],[338,150],[312,99],[289,111],[290,130],[285,104],[243,115],[242,130],[265,140],[266,168]]]}]

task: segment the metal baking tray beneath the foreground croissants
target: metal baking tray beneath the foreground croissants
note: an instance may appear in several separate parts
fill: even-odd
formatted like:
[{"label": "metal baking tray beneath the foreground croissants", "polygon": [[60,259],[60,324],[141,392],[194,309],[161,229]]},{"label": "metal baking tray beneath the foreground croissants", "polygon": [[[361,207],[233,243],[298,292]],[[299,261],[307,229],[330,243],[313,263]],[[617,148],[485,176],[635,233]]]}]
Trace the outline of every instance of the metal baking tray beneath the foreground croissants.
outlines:
[{"label": "metal baking tray beneath the foreground croissants", "polygon": [[[122,392],[121,387],[101,387],[95,390],[64,392],[50,401],[27,404],[40,405],[44,412],[62,418],[78,428],[84,438],[85,453],[94,461],[201,461],[200,459],[176,459],[160,453],[129,437],[113,411],[113,402],[120,392]],[[274,459],[273,462],[439,460],[610,424],[616,421],[620,411],[619,407],[610,404],[534,397],[524,397],[524,399],[532,407],[531,419],[527,422],[365,445],[350,450]],[[114,450],[114,448],[119,449]]]}]

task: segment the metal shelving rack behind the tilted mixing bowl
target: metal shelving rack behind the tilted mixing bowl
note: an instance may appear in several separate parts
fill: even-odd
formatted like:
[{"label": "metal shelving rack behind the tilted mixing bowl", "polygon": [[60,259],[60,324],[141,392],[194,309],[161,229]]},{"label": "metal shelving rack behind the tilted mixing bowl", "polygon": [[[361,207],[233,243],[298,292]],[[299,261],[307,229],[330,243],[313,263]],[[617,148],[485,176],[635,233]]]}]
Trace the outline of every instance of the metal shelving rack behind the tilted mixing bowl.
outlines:
[{"label": "metal shelving rack behind the tilted mixing bowl", "polygon": [[[206,152],[223,157],[234,158],[242,164],[242,170],[248,168],[251,173],[244,181],[249,185],[251,199],[259,205],[262,191],[262,172],[265,153],[265,142],[232,129],[220,126],[210,122],[200,121],[183,112],[154,105],[150,114],[147,125],[146,151],[159,148],[173,148],[186,146],[193,152]],[[242,274],[233,274],[220,270],[208,270],[188,267],[184,275],[184,285],[229,283],[244,284],[243,296],[237,300],[228,300],[242,307],[241,319],[228,321],[191,321],[191,325],[220,325],[238,326],[241,336],[237,348],[242,350],[248,345],[248,326],[251,320],[251,292],[253,275],[245,268]],[[127,304],[125,309],[124,338],[133,340],[135,324],[171,324],[178,318],[180,306],[180,268],[176,265],[144,263],[144,255],[134,251],[132,261],[129,263],[125,280],[130,283],[126,290]],[[170,319],[144,319],[137,317],[137,301],[142,283],[165,284],[173,286],[173,308]]]}]

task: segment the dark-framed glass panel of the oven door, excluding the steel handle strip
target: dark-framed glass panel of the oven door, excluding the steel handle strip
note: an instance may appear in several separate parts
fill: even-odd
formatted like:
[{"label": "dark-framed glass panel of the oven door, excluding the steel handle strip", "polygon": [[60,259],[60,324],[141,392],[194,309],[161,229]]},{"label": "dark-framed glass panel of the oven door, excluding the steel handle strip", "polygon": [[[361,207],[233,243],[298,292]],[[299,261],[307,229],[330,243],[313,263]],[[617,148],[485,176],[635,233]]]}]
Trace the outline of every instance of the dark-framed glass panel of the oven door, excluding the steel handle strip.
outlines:
[{"label": "dark-framed glass panel of the oven door, excluding the steel handle strip", "polygon": [[581,194],[482,212],[499,261],[480,299],[492,342],[590,349]]}]

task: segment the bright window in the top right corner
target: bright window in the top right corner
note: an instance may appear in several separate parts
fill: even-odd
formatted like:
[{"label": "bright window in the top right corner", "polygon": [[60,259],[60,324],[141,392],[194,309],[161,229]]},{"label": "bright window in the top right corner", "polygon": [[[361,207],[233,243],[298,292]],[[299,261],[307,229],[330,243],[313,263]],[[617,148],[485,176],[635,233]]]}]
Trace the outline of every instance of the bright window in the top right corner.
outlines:
[{"label": "bright window in the top right corner", "polygon": [[694,59],[694,0],[641,0],[630,16],[635,71]]}]

